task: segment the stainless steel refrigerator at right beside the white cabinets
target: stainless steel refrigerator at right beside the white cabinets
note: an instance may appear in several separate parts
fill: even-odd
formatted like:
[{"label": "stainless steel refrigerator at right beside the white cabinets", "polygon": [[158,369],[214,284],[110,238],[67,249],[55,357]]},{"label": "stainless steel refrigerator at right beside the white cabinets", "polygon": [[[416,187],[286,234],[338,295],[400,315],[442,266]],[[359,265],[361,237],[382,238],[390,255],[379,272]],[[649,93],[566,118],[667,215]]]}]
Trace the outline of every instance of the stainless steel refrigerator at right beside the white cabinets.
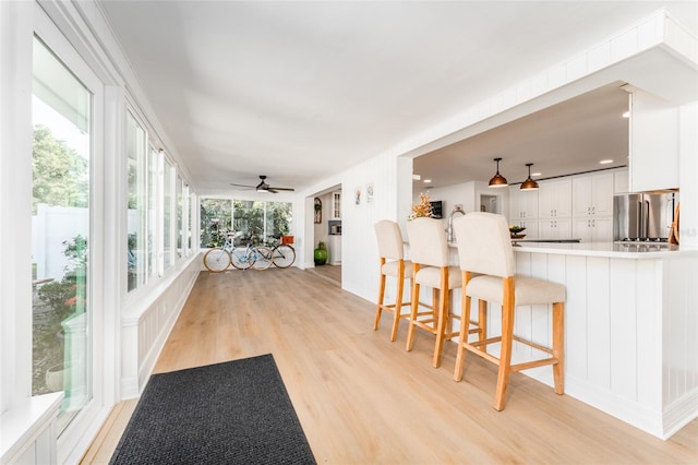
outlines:
[{"label": "stainless steel refrigerator at right beside the white cabinets", "polygon": [[678,193],[624,193],[613,198],[613,238],[624,242],[666,242]]}]

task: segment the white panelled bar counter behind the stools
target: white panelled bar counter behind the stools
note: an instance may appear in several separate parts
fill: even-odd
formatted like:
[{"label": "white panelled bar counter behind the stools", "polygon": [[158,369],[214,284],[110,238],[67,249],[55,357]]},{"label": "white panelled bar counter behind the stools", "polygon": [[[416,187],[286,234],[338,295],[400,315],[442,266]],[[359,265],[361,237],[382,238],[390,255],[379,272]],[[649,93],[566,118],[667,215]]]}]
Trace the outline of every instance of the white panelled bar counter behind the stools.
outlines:
[{"label": "white panelled bar counter behind the stools", "polygon": [[[698,417],[698,250],[613,242],[525,242],[514,250],[517,274],[567,289],[566,395],[661,439]],[[459,291],[454,302],[458,312]],[[491,334],[501,329],[494,307]],[[517,307],[515,333],[550,345],[550,318],[546,306]],[[530,350],[515,345],[513,361]],[[522,373],[553,385],[550,367]]]}]

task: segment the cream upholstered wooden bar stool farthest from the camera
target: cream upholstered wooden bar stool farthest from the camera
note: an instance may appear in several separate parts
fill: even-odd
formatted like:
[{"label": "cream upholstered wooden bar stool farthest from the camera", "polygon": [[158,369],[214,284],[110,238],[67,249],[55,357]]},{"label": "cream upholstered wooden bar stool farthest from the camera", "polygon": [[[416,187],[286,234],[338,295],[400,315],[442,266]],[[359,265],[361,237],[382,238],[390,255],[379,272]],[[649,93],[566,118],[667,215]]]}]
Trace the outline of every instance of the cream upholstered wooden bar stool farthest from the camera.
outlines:
[{"label": "cream upholstered wooden bar stool farthest from the camera", "polygon": [[[393,330],[390,330],[390,341],[397,337],[397,330],[400,319],[409,318],[409,311],[402,313],[402,307],[409,306],[410,302],[402,301],[405,289],[405,279],[412,277],[412,263],[405,260],[405,243],[402,234],[397,223],[389,219],[383,219],[374,225],[375,235],[378,239],[378,254],[381,255],[381,284],[378,287],[378,300],[375,309],[375,322],[373,330],[378,329],[381,323],[381,313],[387,310],[394,314]],[[397,279],[397,296],[395,303],[384,305],[385,281],[386,276]]]}]

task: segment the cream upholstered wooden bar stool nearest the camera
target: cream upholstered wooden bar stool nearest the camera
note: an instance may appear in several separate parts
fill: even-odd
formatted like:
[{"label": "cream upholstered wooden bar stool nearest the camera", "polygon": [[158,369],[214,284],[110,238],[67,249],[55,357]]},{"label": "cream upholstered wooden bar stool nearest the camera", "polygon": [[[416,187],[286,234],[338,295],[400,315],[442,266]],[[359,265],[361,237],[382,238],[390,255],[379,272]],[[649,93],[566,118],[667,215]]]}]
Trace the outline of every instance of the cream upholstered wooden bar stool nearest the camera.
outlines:
[{"label": "cream upholstered wooden bar stool nearest the camera", "polygon": [[[458,257],[462,272],[464,319],[470,317],[471,299],[502,305],[501,336],[470,343],[465,332],[460,334],[454,379],[456,381],[462,379],[466,350],[470,350],[500,367],[494,395],[494,408],[497,410],[504,409],[506,388],[512,371],[552,365],[555,392],[564,394],[565,287],[557,283],[514,275],[514,249],[504,216],[492,213],[471,213],[456,218],[453,226],[458,240]],[[481,273],[481,275],[473,276],[473,273]],[[552,348],[514,335],[516,306],[531,305],[552,305]],[[550,357],[512,365],[514,341],[541,350]],[[498,358],[486,351],[489,344],[497,342],[502,343]]]}]

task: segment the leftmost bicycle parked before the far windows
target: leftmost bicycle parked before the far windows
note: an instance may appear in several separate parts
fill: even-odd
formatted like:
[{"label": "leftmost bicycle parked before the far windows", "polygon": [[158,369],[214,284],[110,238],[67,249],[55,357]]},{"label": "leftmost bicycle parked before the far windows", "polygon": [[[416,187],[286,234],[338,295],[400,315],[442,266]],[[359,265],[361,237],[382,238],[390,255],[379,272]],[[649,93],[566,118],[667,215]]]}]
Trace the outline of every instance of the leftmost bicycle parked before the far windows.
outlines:
[{"label": "leftmost bicycle parked before the far windows", "polygon": [[204,266],[212,273],[221,273],[230,265],[238,270],[266,270],[272,265],[272,250],[265,246],[254,246],[253,237],[246,247],[234,247],[232,231],[226,233],[226,242],[204,254]]}]

